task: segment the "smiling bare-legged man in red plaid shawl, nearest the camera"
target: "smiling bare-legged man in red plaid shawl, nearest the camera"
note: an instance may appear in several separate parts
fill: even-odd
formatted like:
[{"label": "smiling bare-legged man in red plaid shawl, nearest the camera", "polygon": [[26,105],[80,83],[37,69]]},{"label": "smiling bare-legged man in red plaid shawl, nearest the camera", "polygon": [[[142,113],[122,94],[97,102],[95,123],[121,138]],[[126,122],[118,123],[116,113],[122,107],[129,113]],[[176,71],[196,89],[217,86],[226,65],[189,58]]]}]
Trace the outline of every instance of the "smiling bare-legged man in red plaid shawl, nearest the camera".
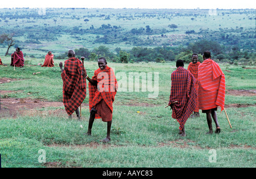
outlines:
[{"label": "smiling bare-legged man in red plaid shawl, nearest the camera", "polygon": [[92,133],[92,125],[95,118],[101,118],[102,121],[108,122],[107,136],[102,142],[110,141],[110,129],[112,125],[113,102],[117,93],[117,79],[112,68],[107,66],[106,59],[98,59],[99,69],[94,71],[94,76],[89,80],[89,108],[90,119],[87,135]]}]

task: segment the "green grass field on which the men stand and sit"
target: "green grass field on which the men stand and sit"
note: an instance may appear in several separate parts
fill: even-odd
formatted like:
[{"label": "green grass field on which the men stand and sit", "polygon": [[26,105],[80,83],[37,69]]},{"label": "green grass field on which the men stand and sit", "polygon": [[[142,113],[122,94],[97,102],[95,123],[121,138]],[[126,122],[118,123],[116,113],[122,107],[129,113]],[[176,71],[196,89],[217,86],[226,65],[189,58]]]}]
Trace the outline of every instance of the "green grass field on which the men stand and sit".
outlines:
[{"label": "green grass field on which the men stand and sit", "polygon": [[[64,60],[56,59],[52,68],[36,66],[44,59],[25,60],[27,65],[14,71],[9,66],[10,56],[2,57],[7,66],[0,66],[0,78],[10,78],[11,82],[0,84],[1,100],[61,102],[62,80],[58,64]],[[205,114],[200,113],[199,118],[189,118],[185,124],[187,136],[179,137],[179,123],[171,118],[171,110],[164,108],[169,100],[170,76],[175,70],[175,62],[109,62],[108,65],[114,67],[115,74],[158,72],[158,97],[148,99],[151,92],[141,90],[118,92],[114,102],[112,141],[107,144],[100,142],[106,136],[106,123],[101,120],[94,122],[92,136],[84,135],[89,121],[89,96],[82,107],[82,121],[75,116],[68,119],[64,106],[24,108],[25,113],[15,117],[1,117],[2,167],[256,167],[255,95],[226,93],[225,105],[246,105],[226,108],[232,129],[225,113],[218,109],[220,134],[205,135],[207,120]],[[225,63],[220,66],[226,76],[227,90],[256,90],[255,69]],[[98,67],[96,62],[85,62],[85,68],[92,76]],[[37,72],[40,73],[33,75]],[[0,114],[7,110],[5,105],[1,103]],[[42,150],[45,163],[40,163]]]}]

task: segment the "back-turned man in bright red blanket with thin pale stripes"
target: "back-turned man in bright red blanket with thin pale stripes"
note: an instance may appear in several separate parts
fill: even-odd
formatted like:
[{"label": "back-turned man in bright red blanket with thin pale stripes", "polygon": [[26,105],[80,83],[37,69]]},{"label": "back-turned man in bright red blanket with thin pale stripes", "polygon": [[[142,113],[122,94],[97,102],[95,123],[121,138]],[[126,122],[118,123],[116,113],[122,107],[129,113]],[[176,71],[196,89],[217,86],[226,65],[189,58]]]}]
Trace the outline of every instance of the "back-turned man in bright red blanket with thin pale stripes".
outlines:
[{"label": "back-turned man in bright red blanket with thin pale stripes", "polygon": [[[218,63],[210,59],[210,52],[204,52],[204,62],[198,67],[198,81],[199,81],[199,109],[207,114],[207,123],[209,132],[212,134],[212,118],[216,125],[215,133],[220,133],[220,126],[217,120],[217,106],[224,109],[225,104],[225,75],[218,66]],[[211,117],[212,116],[212,117]]]}]

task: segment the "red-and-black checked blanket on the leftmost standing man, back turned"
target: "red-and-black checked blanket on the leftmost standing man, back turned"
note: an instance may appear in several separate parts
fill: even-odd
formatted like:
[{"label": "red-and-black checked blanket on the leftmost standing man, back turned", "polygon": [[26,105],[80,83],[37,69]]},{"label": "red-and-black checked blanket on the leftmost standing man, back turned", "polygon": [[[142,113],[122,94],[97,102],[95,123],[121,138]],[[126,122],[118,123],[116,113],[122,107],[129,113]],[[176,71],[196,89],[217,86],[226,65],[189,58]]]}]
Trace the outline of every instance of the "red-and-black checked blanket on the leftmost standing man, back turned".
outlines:
[{"label": "red-and-black checked blanket on the leftmost standing man, back turned", "polygon": [[61,78],[63,80],[63,104],[68,115],[71,115],[86,97],[86,80],[82,76],[81,61],[75,57],[65,61]]}]

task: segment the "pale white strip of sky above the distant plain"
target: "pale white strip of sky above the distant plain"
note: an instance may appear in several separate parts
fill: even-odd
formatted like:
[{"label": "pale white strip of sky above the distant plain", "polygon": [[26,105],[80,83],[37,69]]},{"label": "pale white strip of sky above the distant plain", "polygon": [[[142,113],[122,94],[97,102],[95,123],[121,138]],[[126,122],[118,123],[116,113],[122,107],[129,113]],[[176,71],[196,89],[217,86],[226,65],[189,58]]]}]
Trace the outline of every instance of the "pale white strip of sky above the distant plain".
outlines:
[{"label": "pale white strip of sky above the distant plain", "polygon": [[0,8],[256,8],[255,0],[1,0]]}]

